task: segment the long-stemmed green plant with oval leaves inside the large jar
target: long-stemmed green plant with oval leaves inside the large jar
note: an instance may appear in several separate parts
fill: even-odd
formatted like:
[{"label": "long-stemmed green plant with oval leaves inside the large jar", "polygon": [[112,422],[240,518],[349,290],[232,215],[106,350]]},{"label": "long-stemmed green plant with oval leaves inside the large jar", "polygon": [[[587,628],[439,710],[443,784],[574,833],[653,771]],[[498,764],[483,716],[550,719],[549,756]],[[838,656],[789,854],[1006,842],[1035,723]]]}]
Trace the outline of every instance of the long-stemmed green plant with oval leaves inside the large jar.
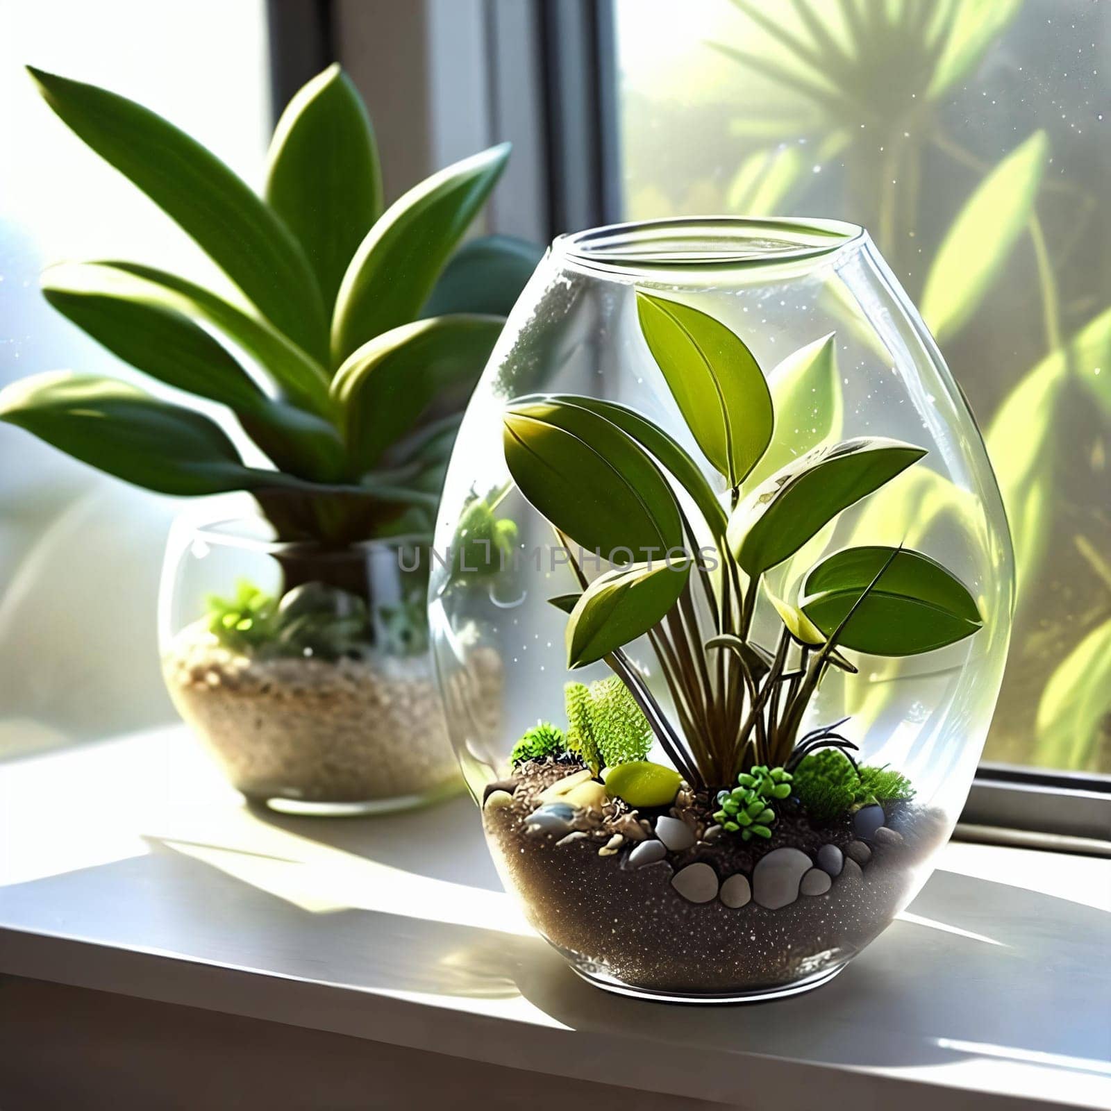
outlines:
[{"label": "long-stemmed green plant with oval leaves inside the large jar", "polygon": [[[578,595],[552,599],[569,611],[568,665],[604,661],[615,675],[610,682],[624,685],[675,769],[692,785],[718,787],[754,765],[787,764],[797,743],[817,740],[799,742],[799,729],[829,669],[855,670],[841,650],[929,652],[982,622],[969,591],[929,557],[865,546],[812,567],[797,600],[769,597],[779,637],[771,648],[758,643],[751,630],[764,572],[925,452],[879,438],[820,446],[742,500],[741,483],[767,453],[774,426],[760,367],[713,317],[641,291],[637,304],[649,351],[691,436],[725,479],[729,510],[674,439],[609,401],[563,394],[511,402],[506,461],[520,492],[564,542],[578,579]],[[599,488],[599,474],[601,494],[583,498],[583,490]],[[693,523],[675,487],[697,512]],[[700,534],[712,539],[717,575]],[[572,543],[608,556],[611,569],[588,580]],[[634,561],[638,552],[647,560]],[[624,650],[642,635],[678,730]],[[580,724],[583,689],[569,689],[571,743],[597,767],[597,740]],[[821,740],[841,743],[834,735]]]}]

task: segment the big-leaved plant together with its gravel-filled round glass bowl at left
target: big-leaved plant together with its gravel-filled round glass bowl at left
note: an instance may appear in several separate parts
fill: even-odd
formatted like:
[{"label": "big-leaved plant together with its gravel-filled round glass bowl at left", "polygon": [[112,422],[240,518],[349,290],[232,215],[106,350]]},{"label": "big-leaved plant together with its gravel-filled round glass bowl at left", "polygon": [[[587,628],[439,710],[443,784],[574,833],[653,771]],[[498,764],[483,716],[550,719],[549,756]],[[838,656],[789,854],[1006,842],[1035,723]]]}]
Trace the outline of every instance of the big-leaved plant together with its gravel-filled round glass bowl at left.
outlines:
[{"label": "big-leaved plant together with its gravel-filled round glass bowl at left", "polygon": [[383,210],[366,107],[333,66],[282,114],[258,196],[141,106],[31,74],[233,287],[98,261],[49,269],[47,300],[150,379],[226,407],[264,459],[244,460],[192,406],[114,378],[33,376],[0,393],[0,419],[150,490],[253,497],[257,520],[171,539],[162,607],[174,701],[244,793],[311,807],[442,788],[454,777],[428,569],[398,556],[427,542],[461,410],[539,257],[503,237],[457,251],[508,146]]}]

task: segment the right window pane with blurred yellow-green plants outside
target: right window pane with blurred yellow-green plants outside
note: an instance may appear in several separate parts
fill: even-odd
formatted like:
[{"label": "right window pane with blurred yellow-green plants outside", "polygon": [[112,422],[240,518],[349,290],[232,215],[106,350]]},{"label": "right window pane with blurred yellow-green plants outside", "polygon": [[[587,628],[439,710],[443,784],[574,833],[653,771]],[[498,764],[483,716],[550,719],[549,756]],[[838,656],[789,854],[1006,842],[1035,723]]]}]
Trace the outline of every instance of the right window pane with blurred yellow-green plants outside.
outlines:
[{"label": "right window pane with blurred yellow-green plants outside", "polygon": [[615,20],[624,218],[870,230],[1010,517],[984,757],[1111,772],[1111,4],[617,0]]}]

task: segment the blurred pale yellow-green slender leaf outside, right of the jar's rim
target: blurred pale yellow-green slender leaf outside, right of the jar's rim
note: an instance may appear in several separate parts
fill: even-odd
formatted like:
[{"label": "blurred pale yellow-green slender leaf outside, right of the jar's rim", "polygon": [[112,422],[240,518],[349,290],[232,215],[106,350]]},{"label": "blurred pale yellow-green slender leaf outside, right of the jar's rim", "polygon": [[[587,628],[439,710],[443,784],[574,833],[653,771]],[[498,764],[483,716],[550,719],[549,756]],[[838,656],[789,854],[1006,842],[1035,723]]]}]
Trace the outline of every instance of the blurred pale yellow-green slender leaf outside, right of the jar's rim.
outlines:
[{"label": "blurred pale yellow-green slender leaf outside, right of the jar's rim", "polygon": [[945,232],[922,293],[922,317],[939,343],[975,312],[1034,209],[1049,140],[1035,131],[964,202]]}]

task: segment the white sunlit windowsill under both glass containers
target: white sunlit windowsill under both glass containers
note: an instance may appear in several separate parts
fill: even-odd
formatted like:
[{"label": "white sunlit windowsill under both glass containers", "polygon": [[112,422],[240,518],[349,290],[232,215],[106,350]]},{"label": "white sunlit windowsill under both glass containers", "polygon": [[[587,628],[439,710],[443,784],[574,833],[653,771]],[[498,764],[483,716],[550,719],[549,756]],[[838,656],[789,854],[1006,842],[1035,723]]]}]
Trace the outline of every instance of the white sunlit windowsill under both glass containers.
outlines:
[{"label": "white sunlit windowsill under both glass containers", "polygon": [[0,814],[3,973],[779,1111],[1111,1105],[1105,860],[951,843],[829,985],[684,1008],[579,981],[467,799],[264,813],[174,728],[0,764]]}]

